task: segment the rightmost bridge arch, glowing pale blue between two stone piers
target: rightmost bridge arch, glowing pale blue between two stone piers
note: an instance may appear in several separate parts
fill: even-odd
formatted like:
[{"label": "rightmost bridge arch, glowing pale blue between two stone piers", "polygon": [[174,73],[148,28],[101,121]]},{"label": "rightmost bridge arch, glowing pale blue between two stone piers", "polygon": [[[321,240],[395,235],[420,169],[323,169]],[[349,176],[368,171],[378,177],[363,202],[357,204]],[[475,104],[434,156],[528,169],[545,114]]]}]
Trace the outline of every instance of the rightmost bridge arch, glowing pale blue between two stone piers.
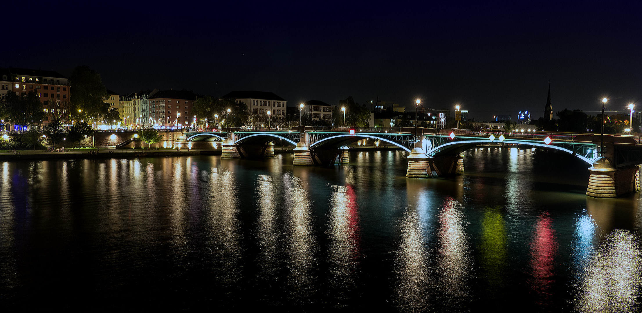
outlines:
[{"label": "rightmost bridge arch, glowing pale blue between two stone piers", "polygon": [[[428,153],[426,153],[426,155],[427,156],[458,155],[459,153],[462,153],[467,149],[473,148],[475,146],[480,146],[482,144],[490,144],[490,143],[491,142],[488,139],[485,139],[485,140],[469,139],[469,140],[453,141],[453,142],[448,142],[446,144],[442,144],[433,149],[428,149]],[[492,143],[498,144],[500,142],[495,140]],[[557,143],[557,144],[547,145],[544,142],[534,142],[529,140],[511,140],[511,139],[503,140],[503,142],[501,143],[502,144],[522,144],[525,146],[534,146],[537,148],[556,149],[556,150],[564,151],[571,155],[575,155],[581,160],[583,160],[584,162],[586,162],[587,164],[593,165],[595,146],[589,143],[586,143],[586,144]]]}]

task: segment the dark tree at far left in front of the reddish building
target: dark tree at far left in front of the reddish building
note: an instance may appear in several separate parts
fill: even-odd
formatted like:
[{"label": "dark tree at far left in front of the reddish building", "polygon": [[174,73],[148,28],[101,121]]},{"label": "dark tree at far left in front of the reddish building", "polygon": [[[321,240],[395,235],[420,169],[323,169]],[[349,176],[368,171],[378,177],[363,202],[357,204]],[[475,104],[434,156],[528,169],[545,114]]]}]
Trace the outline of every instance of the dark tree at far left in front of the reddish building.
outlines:
[{"label": "dark tree at far left in front of the reddish building", "polygon": [[35,91],[21,95],[7,92],[2,111],[9,121],[22,126],[39,125],[46,117],[44,106]]}]

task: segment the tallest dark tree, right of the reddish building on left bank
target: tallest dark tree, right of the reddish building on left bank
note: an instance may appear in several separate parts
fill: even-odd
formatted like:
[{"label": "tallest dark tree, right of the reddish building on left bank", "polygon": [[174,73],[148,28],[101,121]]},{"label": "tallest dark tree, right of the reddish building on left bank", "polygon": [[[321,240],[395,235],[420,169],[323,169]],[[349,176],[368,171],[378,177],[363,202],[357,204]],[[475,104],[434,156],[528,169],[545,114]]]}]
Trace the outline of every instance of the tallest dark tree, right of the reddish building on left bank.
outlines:
[{"label": "tallest dark tree, right of the reddish building on left bank", "polygon": [[109,94],[98,72],[87,65],[78,66],[71,73],[69,81],[69,97],[77,119],[98,119],[107,115],[109,104],[104,101]]}]

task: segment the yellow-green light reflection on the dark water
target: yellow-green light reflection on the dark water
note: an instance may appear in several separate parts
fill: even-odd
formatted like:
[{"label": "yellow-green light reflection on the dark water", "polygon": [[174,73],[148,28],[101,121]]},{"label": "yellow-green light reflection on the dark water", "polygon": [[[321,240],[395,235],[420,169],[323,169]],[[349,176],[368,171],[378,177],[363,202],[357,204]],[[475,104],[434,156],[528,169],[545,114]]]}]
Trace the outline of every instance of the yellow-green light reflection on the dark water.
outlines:
[{"label": "yellow-green light reflection on the dark water", "polygon": [[483,214],[480,244],[480,275],[488,280],[489,291],[496,292],[506,275],[507,235],[501,208],[488,208]]}]

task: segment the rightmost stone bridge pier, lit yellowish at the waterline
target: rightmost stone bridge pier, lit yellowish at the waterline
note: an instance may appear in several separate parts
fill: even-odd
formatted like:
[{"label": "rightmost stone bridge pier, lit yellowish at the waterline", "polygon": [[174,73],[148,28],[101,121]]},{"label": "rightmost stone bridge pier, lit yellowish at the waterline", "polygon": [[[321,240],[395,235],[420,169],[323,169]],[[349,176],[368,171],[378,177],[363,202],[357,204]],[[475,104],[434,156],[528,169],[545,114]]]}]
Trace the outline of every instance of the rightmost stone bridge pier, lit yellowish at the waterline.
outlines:
[{"label": "rightmost stone bridge pier, lit yellowish at the waterline", "polygon": [[594,198],[616,198],[640,191],[640,166],[632,165],[614,169],[608,158],[595,160],[589,168],[589,185],[586,195]]}]

